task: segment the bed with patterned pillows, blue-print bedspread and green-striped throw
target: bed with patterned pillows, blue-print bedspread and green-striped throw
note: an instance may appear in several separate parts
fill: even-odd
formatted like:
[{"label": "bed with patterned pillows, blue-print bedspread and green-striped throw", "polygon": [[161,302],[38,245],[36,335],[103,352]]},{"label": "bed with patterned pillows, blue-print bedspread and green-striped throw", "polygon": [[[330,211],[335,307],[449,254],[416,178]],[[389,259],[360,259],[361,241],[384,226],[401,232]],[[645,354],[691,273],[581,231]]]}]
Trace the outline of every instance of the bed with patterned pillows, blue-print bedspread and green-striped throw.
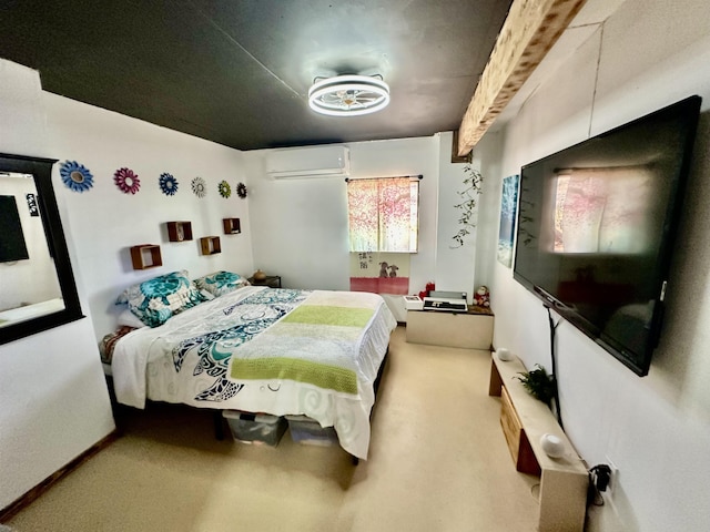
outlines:
[{"label": "bed with patterned pillows, blue-print bedspread and green-striped throw", "polygon": [[384,299],[248,286],[230,275],[237,282],[229,289],[186,272],[158,279],[159,290],[126,289],[120,301],[142,320],[136,326],[151,326],[111,339],[118,402],[303,415],[334,427],[341,447],[366,459],[375,380],[396,327]]}]

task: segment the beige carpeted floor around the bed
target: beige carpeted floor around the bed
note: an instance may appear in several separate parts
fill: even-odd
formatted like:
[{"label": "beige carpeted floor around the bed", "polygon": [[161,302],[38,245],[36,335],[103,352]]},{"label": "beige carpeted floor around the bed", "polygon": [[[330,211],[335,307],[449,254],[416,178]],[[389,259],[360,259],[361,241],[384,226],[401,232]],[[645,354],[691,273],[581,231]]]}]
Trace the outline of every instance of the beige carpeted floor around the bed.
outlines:
[{"label": "beige carpeted floor around the bed", "polygon": [[515,471],[489,354],[393,335],[369,459],[213,437],[210,412],[151,405],[8,525],[34,531],[534,531],[538,479]]}]

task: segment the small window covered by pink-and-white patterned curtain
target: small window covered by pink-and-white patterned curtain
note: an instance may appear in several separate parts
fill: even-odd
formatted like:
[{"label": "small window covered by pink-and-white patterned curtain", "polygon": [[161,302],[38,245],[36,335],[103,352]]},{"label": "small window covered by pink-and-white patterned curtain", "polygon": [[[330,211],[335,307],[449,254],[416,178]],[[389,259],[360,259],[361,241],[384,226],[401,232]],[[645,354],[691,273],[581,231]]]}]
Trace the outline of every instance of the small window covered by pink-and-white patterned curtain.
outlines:
[{"label": "small window covered by pink-and-white patterned curtain", "polygon": [[351,252],[416,253],[419,176],[349,180]]}]

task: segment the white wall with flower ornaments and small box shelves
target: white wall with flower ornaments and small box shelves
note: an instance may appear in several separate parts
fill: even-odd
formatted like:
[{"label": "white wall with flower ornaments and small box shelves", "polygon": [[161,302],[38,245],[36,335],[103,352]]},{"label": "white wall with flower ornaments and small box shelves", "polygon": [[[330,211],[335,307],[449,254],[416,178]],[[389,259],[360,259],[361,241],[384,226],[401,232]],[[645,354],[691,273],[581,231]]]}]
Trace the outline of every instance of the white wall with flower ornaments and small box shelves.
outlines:
[{"label": "white wall with flower ornaments and small box shelves", "polygon": [[[68,208],[78,277],[88,295],[85,311],[91,313],[97,339],[115,329],[122,309],[114,305],[115,298],[134,283],[176,269],[187,269],[191,278],[219,269],[252,274],[250,202],[236,195],[239,182],[248,186],[239,151],[47,92],[41,103],[50,134],[48,156],[60,160],[55,191]],[[92,173],[91,190],[77,193],[61,183],[59,165],[67,160]],[[115,186],[113,175],[121,167],[138,174],[136,194]],[[159,187],[165,172],[179,183],[173,196]],[[203,198],[191,190],[196,176],[207,185]],[[231,187],[229,198],[219,194],[222,180]],[[240,218],[242,234],[223,234],[226,217]],[[171,221],[190,221],[194,239],[169,242],[165,223]],[[222,253],[201,255],[203,236],[220,236]],[[130,247],[139,244],[159,244],[163,266],[134,270]]]}]

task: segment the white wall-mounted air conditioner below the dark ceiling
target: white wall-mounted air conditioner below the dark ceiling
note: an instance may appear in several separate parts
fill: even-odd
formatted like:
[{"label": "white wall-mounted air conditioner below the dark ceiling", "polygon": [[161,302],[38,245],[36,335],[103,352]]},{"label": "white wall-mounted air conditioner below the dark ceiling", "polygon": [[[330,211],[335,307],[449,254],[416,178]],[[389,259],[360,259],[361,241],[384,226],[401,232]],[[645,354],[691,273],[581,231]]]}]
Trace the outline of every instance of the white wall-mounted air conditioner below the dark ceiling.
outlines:
[{"label": "white wall-mounted air conditioner below the dark ceiling", "polygon": [[266,155],[266,175],[274,180],[347,177],[351,152],[346,146],[274,150]]}]

